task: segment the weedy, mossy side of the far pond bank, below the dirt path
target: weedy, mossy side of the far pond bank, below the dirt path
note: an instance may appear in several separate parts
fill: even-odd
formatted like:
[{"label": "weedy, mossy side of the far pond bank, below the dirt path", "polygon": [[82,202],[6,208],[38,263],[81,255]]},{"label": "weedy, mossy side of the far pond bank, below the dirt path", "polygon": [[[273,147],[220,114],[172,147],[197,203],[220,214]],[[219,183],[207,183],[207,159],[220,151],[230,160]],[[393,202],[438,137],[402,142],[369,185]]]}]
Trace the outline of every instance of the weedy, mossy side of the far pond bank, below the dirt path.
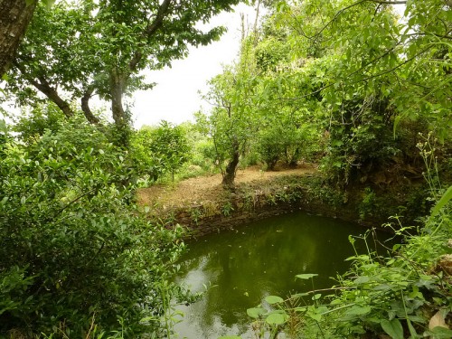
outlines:
[{"label": "weedy, mossy side of the far pond bank, below the dirt path", "polygon": [[[233,191],[223,190],[221,186],[217,189],[221,192],[215,200],[200,199],[200,202],[182,206],[156,208],[149,214],[150,218],[164,221],[169,227],[183,225],[193,236],[233,230],[249,221],[298,210],[366,227],[381,227],[391,215],[400,215],[396,207],[407,200],[407,194],[378,192],[368,187],[337,190],[315,174],[241,183]],[[409,209],[405,212],[409,213]]]}]

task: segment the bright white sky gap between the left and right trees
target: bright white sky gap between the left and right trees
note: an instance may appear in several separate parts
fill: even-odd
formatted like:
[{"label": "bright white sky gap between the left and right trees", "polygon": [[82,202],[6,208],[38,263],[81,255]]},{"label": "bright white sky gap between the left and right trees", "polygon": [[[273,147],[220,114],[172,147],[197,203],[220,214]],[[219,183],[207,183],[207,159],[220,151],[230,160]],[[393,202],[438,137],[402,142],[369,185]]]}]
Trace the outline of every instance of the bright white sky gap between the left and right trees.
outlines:
[{"label": "bright white sky gap between the left and right trees", "polygon": [[207,81],[221,73],[222,65],[231,64],[240,48],[240,13],[245,20],[254,23],[252,7],[238,5],[233,13],[223,13],[213,18],[212,25],[223,25],[228,32],[219,42],[208,46],[191,48],[184,60],[174,61],[172,68],[149,72],[147,80],[156,82],[154,89],[134,93],[134,126],[156,125],[160,120],[181,123],[193,120],[193,113],[207,104],[202,101],[199,90],[205,92]]}]

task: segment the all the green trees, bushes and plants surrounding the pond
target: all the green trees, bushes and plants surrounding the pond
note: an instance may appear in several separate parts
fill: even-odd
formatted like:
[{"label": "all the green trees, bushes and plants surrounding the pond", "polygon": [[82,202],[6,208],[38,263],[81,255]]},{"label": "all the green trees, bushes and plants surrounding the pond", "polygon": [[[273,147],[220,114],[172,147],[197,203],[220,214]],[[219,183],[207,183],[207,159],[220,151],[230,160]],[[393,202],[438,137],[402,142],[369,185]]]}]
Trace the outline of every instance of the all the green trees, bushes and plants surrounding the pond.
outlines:
[{"label": "all the green trees, bushes and plants surrounding the pond", "polygon": [[450,337],[428,328],[452,312],[450,2],[257,1],[268,14],[210,81],[212,110],[134,130],[123,97],[153,86],[139,71],[218,39],[194,24],[238,2],[37,5],[2,91],[23,114],[0,120],[0,336],[170,336],[171,302],[193,300],[168,282],[183,230],[146,221],[137,188],[221,171],[230,190],[240,165],[306,161],[332,201],[361,192],[363,216],[388,204],[380,193],[416,186],[398,211],[423,218],[393,215],[396,234],[416,235],[388,258],[356,253],[333,296],[250,309],[258,335]]}]

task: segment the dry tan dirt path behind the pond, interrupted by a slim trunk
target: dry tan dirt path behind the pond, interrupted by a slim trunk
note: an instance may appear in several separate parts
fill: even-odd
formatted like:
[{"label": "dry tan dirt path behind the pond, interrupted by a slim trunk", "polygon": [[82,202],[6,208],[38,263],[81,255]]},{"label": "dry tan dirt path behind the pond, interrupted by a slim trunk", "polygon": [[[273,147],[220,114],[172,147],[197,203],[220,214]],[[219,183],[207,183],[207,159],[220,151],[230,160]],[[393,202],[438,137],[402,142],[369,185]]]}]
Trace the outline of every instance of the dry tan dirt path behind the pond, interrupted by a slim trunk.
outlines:
[{"label": "dry tan dirt path behind the pond, interrupted by a slim trunk", "polygon": [[[259,166],[252,166],[239,170],[236,176],[236,184],[257,182],[265,184],[274,177],[289,175],[314,174],[315,168],[311,165],[300,165],[293,169],[281,169],[273,172],[263,172]],[[138,203],[150,207],[166,209],[172,206],[186,206],[202,204],[202,202],[215,202],[220,200],[223,189],[221,186],[221,174],[212,176],[199,176],[184,180],[178,184],[159,184],[144,188],[138,192]]]}]

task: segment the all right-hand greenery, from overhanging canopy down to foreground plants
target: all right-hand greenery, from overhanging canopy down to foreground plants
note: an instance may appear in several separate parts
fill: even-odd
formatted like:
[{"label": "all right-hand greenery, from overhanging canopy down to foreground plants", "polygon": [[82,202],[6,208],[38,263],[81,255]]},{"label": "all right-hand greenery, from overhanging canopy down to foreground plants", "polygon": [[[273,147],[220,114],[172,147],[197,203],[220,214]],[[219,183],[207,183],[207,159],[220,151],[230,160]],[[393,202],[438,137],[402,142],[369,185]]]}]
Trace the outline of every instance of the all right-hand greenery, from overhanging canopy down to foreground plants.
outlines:
[{"label": "all right-hand greenery, from overhanging canopy down to foreground plants", "polygon": [[395,3],[270,4],[261,30],[243,40],[240,61],[212,80],[216,107],[198,121],[225,166],[224,184],[233,182],[239,155],[255,153],[268,169],[319,159],[325,183],[361,187],[363,215],[391,186],[423,190],[418,216],[436,204],[418,228],[392,216],[386,226],[408,235],[388,258],[372,250],[368,234],[368,252],[350,258],[351,270],[331,290],[269,296],[249,309],[258,337],[452,335],[452,9],[397,2],[404,5],[397,14]]}]

